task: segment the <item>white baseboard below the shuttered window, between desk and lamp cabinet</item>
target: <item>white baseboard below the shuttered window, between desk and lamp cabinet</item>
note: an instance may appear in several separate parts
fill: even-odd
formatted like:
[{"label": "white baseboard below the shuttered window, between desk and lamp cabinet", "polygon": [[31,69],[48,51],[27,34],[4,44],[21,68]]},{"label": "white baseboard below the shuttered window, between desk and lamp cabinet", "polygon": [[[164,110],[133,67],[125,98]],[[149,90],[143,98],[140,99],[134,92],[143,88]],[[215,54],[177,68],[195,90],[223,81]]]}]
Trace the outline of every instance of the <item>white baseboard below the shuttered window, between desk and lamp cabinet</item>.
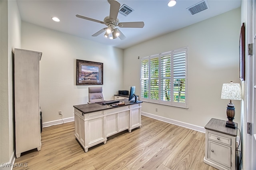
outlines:
[{"label": "white baseboard below the shuttered window, between desk and lamp cabinet", "polygon": [[166,117],[161,117],[161,116],[153,115],[153,114],[146,113],[146,112],[141,112],[141,115],[144,115],[146,117],[150,117],[150,118],[153,118],[153,119],[157,119],[159,121],[163,121],[163,122],[171,123],[171,124],[174,124],[174,125],[178,125],[178,126],[181,126],[181,127],[190,128],[190,129],[196,130],[198,132],[205,133],[205,128],[204,127],[199,127],[199,126],[192,125],[192,124],[189,124],[189,123],[184,123],[184,122],[176,121],[176,120],[173,120],[173,119],[169,119],[169,118],[166,118]]}]

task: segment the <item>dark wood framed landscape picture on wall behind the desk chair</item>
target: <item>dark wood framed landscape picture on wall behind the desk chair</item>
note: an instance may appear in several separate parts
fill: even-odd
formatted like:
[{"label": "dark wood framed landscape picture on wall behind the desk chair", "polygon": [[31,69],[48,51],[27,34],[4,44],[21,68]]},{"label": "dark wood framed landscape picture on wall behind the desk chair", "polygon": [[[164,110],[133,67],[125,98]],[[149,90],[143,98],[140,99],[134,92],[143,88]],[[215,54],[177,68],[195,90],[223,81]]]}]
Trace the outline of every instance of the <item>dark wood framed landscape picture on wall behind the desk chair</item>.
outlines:
[{"label": "dark wood framed landscape picture on wall behind the desk chair", "polygon": [[77,59],[76,85],[103,85],[103,63]]}]

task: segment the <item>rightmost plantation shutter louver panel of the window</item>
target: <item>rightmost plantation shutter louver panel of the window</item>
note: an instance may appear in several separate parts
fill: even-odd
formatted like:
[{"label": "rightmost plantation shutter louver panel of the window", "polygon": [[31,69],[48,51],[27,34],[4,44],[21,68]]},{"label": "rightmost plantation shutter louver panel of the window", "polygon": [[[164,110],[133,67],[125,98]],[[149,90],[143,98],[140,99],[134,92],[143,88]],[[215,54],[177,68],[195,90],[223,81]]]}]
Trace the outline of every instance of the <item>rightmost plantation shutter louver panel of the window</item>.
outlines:
[{"label": "rightmost plantation shutter louver panel of the window", "polygon": [[185,103],[186,99],[186,50],[173,52],[173,101]]}]

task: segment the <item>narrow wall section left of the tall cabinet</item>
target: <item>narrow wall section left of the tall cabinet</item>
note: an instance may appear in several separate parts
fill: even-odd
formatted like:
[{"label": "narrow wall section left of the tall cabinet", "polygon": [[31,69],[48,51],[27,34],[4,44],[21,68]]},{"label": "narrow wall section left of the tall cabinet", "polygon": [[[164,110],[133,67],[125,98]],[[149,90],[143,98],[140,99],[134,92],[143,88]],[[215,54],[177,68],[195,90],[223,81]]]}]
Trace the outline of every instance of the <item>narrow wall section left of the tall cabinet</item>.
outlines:
[{"label": "narrow wall section left of the tall cabinet", "polygon": [[16,1],[0,1],[0,163],[14,158],[13,51],[21,46],[21,19]]}]

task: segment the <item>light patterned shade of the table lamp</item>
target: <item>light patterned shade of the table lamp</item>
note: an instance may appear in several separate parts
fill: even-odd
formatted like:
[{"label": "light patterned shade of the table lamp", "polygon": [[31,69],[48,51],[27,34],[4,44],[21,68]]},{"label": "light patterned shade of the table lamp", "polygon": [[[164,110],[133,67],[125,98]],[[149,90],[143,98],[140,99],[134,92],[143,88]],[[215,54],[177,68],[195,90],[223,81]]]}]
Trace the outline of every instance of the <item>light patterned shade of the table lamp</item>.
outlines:
[{"label": "light patterned shade of the table lamp", "polygon": [[221,99],[242,100],[242,89],[239,83],[224,83],[222,85]]}]

